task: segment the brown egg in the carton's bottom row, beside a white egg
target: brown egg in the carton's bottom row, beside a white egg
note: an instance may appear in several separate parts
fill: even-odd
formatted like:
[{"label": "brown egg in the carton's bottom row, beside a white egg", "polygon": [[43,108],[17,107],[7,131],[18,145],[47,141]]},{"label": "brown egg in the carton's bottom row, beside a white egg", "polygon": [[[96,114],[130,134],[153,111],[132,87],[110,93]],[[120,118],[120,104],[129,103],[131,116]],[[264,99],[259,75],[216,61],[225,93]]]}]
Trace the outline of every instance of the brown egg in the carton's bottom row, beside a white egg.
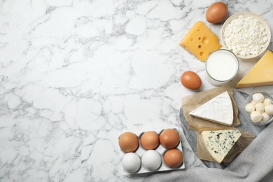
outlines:
[{"label": "brown egg in the carton's bottom row, beside a white egg", "polygon": [[176,148],[168,150],[164,155],[164,162],[169,168],[179,167],[183,162],[183,154]]}]

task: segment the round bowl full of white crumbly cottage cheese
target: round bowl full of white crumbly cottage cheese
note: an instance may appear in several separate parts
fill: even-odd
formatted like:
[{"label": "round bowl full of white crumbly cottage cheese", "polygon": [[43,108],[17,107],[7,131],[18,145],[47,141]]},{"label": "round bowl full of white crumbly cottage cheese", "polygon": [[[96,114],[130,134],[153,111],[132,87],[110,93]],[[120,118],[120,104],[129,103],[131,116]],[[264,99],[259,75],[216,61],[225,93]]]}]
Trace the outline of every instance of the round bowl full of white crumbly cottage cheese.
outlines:
[{"label": "round bowl full of white crumbly cottage cheese", "polygon": [[259,15],[241,12],[230,16],[221,30],[223,46],[238,58],[253,59],[267,50],[271,31]]}]

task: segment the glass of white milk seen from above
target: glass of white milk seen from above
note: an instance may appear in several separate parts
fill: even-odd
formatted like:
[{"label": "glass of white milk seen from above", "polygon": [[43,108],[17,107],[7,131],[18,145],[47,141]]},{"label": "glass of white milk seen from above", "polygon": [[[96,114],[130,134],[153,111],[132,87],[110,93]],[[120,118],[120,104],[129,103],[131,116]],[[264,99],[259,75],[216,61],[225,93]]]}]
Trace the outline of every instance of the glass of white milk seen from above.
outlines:
[{"label": "glass of white milk seen from above", "polygon": [[230,50],[219,49],[207,57],[205,67],[209,83],[220,86],[235,78],[239,71],[239,60]]}]

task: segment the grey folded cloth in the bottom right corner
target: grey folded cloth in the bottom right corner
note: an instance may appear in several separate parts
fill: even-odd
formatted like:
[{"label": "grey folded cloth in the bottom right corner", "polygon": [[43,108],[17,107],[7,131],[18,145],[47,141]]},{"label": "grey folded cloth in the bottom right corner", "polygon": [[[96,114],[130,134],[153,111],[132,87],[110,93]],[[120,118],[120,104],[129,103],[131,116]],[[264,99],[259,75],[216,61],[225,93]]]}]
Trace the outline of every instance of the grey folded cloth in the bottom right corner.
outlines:
[{"label": "grey folded cloth in the bottom right corner", "polygon": [[273,123],[225,169],[192,168],[151,174],[144,181],[273,181]]}]

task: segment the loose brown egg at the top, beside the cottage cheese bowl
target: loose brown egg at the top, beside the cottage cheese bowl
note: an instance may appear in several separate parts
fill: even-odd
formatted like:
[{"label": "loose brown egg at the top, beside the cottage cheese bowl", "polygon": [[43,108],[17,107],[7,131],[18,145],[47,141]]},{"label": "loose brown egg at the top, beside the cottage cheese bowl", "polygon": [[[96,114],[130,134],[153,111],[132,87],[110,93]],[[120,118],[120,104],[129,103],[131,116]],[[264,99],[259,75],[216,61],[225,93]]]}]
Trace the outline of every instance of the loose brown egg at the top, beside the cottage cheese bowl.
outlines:
[{"label": "loose brown egg at the top, beside the cottage cheese bowl", "polygon": [[206,12],[206,19],[210,23],[218,23],[228,15],[228,6],[223,2],[211,4]]}]

